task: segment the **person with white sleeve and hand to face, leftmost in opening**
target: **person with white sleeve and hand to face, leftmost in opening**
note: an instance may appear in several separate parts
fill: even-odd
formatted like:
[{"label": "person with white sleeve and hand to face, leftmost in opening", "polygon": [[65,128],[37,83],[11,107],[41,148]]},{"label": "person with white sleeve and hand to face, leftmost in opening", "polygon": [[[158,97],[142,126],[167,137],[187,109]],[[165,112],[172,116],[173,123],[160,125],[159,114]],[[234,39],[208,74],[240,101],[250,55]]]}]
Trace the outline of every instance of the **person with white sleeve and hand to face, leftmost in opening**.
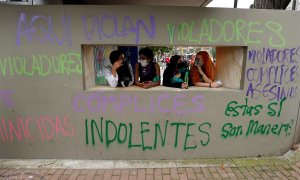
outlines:
[{"label": "person with white sleeve and hand to face, leftmost in opening", "polygon": [[109,55],[111,65],[104,70],[104,76],[111,87],[131,86],[134,81],[132,67],[125,60],[124,54],[115,50]]}]

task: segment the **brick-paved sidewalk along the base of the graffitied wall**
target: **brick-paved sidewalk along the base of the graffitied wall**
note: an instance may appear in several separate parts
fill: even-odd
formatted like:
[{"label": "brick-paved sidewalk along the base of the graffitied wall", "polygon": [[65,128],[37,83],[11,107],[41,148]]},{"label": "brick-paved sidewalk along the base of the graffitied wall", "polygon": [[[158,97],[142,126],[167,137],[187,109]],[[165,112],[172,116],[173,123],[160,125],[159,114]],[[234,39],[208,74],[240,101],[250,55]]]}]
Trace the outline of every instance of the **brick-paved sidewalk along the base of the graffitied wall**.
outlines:
[{"label": "brick-paved sidewalk along the base of the graffitied wall", "polygon": [[300,149],[280,157],[182,161],[0,159],[0,179],[300,179]]}]

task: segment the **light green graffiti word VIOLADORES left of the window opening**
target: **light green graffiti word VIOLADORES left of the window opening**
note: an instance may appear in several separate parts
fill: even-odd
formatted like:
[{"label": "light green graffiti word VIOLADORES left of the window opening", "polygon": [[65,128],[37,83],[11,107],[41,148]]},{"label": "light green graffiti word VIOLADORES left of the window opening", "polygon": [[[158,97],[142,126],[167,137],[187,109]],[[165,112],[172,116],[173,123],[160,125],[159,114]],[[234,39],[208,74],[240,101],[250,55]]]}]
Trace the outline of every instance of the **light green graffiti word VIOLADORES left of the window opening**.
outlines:
[{"label": "light green graffiti word VIOLADORES left of the window opening", "polygon": [[0,58],[0,76],[48,76],[82,74],[81,55],[63,53],[56,56],[32,55]]}]

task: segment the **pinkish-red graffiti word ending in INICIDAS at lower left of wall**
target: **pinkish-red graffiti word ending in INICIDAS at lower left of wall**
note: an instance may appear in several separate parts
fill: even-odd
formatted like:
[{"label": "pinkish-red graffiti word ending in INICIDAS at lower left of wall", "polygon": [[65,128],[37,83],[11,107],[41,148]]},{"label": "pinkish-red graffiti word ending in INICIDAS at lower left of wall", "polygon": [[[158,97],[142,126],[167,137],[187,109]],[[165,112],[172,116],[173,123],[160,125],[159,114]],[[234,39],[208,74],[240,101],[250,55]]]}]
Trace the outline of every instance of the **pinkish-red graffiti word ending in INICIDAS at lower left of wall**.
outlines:
[{"label": "pinkish-red graffiti word ending in INICIDAS at lower left of wall", "polygon": [[49,141],[60,137],[75,136],[75,133],[75,127],[70,124],[68,115],[25,118],[17,116],[14,120],[2,117],[0,123],[0,140],[2,142]]}]

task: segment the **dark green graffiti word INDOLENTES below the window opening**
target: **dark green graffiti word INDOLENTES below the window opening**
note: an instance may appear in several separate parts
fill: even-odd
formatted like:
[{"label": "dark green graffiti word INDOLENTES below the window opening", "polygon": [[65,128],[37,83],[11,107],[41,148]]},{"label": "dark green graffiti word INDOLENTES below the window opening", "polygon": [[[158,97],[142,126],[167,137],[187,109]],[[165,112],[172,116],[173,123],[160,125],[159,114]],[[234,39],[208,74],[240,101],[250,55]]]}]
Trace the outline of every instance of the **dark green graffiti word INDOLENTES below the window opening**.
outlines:
[{"label": "dark green graffiti word INDOLENTES below the window opening", "polygon": [[[193,150],[207,146],[210,142],[211,123],[141,121],[122,123],[111,120],[85,120],[86,144],[126,145],[128,149],[139,148],[143,151],[157,148],[182,148]],[[182,147],[179,147],[182,146]]]}]

